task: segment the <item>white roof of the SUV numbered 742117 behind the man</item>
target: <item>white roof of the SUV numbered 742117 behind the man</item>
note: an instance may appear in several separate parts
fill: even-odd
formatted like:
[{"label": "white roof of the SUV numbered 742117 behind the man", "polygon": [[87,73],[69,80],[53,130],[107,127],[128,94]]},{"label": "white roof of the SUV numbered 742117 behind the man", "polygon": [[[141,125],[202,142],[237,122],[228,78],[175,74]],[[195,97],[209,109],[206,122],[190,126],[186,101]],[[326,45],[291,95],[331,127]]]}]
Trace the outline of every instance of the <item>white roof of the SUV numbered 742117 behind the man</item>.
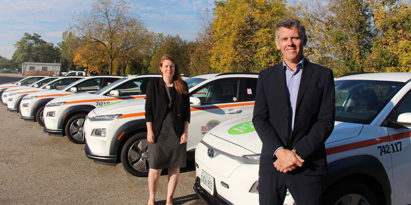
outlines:
[{"label": "white roof of the SUV numbered 742117 behind the man", "polygon": [[359,73],[344,75],[335,78],[335,80],[384,80],[384,81],[398,81],[407,82],[411,79],[411,73],[397,72],[397,73]]}]

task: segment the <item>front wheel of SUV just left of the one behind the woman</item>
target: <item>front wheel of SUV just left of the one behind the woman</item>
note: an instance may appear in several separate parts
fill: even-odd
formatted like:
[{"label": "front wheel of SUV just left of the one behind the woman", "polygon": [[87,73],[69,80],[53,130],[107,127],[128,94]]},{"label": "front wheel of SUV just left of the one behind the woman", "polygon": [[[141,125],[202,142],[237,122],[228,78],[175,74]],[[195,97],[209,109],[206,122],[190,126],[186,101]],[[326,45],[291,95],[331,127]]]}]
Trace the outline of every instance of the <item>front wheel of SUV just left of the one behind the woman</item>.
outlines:
[{"label": "front wheel of SUV just left of the one behind the woman", "polygon": [[86,114],[77,114],[72,116],[66,124],[65,131],[67,138],[76,144],[85,144],[83,134],[83,125]]}]

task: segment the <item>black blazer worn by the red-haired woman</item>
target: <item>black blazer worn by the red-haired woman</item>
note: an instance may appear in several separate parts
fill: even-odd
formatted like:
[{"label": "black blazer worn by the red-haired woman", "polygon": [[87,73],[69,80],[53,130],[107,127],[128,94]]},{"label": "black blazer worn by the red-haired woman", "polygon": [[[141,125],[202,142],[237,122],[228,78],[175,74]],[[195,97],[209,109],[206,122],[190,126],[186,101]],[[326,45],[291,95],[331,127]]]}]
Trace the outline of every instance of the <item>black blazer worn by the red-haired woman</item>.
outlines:
[{"label": "black blazer worn by the red-haired woman", "polygon": [[[152,79],[148,82],[145,97],[145,121],[153,122],[153,131],[158,136],[161,125],[165,118],[165,112],[169,105],[169,95],[164,88],[163,78]],[[184,87],[188,85],[184,81]],[[171,112],[177,122],[177,133],[183,132],[184,121],[190,122],[190,97],[189,93],[179,94],[173,86],[171,94]]]}]

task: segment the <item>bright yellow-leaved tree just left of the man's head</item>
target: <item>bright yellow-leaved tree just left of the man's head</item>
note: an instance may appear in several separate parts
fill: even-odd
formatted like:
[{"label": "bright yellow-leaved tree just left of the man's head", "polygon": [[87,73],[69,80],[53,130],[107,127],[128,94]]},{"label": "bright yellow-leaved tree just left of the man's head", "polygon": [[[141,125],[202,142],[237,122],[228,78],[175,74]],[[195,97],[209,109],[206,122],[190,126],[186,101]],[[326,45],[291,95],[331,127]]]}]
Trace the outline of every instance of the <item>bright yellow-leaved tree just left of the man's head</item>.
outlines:
[{"label": "bright yellow-leaved tree just left of the man's head", "polygon": [[275,24],[287,12],[282,0],[215,2],[211,67],[217,72],[257,72],[281,61]]}]

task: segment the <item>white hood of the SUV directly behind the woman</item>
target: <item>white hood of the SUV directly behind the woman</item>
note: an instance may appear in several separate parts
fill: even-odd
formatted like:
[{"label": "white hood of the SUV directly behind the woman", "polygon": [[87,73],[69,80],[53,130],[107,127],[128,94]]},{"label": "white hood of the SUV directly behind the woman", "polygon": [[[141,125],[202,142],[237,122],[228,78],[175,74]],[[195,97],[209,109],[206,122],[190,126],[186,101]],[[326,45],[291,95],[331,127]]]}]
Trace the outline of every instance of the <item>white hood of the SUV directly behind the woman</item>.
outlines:
[{"label": "white hood of the SUV directly behind the woman", "polygon": [[144,112],[145,99],[136,98],[121,100],[100,106],[93,110],[96,115],[130,114]]}]

